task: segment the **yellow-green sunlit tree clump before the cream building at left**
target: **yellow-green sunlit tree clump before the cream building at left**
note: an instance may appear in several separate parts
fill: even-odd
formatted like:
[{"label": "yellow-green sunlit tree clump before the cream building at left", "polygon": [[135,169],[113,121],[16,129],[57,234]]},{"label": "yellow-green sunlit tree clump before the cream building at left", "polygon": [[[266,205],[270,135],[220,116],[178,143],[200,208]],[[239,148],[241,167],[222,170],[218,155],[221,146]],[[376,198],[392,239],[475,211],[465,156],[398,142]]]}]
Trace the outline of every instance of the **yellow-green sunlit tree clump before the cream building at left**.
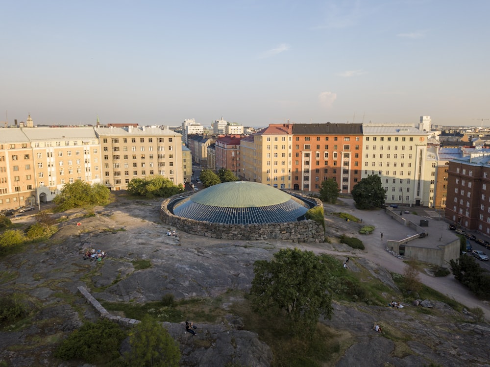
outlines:
[{"label": "yellow-green sunlit tree clump before the cream building at left", "polygon": [[110,190],[102,184],[91,186],[89,183],[76,180],[63,186],[53,202],[57,209],[65,211],[72,208],[85,207],[87,205],[105,205],[109,203]]}]

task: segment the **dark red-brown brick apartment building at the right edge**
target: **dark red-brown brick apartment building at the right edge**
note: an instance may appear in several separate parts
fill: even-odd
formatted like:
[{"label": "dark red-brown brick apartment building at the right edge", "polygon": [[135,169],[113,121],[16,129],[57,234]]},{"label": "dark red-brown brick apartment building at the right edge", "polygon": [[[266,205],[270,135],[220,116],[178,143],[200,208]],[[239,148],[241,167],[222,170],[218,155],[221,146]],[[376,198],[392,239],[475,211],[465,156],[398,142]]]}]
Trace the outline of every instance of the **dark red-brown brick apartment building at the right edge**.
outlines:
[{"label": "dark red-brown brick apartment building at the right edge", "polygon": [[450,161],[447,185],[445,218],[490,235],[490,154]]}]

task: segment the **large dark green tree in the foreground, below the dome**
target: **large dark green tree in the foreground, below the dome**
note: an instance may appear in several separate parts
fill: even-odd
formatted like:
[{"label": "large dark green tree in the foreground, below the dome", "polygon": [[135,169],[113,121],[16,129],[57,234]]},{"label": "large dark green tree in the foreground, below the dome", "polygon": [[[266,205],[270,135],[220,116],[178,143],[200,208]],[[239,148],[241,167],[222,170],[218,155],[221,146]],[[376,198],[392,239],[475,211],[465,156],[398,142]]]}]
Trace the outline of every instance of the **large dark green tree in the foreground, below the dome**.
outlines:
[{"label": "large dark green tree in the foreground, below the dome", "polygon": [[281,249],[272,261],[254,263],[250,294],[256,311],[284,312],[297,335],[313,335],[320,315],[331,318],[328,262],[299,249]]}]

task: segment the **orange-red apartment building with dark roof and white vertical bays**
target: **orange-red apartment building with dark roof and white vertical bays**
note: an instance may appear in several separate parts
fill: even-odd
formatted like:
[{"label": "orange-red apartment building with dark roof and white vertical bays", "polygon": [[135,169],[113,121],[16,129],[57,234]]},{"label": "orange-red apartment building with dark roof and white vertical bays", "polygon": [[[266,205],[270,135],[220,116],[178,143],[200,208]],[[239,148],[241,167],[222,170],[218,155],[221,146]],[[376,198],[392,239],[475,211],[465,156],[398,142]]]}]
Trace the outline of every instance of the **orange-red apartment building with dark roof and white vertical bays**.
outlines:
[{"label": "orange-red apartment building with dark roof and white vertical bays", "polygon": [[318,192],[333,178],[342,193],[350,193],[361,180],[361,123],[295,123],[292,133],[294,190]]}]

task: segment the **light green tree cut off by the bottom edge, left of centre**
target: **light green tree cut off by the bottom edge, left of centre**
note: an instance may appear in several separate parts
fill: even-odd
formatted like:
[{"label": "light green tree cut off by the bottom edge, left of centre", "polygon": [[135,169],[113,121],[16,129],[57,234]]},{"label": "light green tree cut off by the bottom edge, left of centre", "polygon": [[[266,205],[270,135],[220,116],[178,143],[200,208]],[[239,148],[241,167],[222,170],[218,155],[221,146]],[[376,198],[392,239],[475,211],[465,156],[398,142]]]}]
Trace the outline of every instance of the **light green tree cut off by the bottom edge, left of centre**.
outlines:
[{"label": "light green tree cut off by the bottom edge, left of centre", "polygon": [[129,344],[131,352],[125,359],[130,366],[179,366],[178,344],[161,324],[148,316],[131,330]]}]

